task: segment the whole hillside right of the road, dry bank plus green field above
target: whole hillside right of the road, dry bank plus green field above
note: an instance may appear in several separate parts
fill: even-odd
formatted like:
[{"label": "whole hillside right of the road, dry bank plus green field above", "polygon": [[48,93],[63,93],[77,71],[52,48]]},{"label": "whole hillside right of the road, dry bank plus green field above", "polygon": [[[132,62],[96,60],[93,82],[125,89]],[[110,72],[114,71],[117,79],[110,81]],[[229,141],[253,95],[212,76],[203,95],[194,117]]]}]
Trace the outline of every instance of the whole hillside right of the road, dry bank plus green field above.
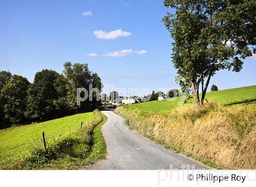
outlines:
[{"label": "whole hillside right of the road, dry bank plus green field above", "polygon": [[209,103],[117,107],[132,130],[216,168],[256,168],[256,86],[207,93]]}]

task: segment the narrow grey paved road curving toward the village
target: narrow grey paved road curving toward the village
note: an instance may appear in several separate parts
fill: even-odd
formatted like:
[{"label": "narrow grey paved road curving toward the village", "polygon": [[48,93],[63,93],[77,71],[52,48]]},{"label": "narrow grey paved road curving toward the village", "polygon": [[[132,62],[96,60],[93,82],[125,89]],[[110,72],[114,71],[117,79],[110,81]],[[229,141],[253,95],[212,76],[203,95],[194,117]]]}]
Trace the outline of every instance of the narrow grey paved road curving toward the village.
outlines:
[{"label": "narrow grey paved road curving toward the village", "polygon": [[107,159],[89,166],[95,170],[157,170],[157,169],[208,169],[177,154],[165,147],[155,144],[144,137],[128,130],[123,118],[112,111],[103,111],[107,122],[102,132],[107,143]]}]

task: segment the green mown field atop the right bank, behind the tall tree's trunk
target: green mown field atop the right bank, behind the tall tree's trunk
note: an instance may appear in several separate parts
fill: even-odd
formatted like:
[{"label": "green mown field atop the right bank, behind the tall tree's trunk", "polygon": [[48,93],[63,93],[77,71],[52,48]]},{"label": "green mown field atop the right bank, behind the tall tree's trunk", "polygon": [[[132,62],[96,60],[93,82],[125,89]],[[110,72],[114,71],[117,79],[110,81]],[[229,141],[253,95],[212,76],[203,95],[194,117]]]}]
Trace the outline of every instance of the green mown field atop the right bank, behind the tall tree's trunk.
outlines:
[{"label": "green mown field atop the right bank, behind the tall tree's trunk", "polygon": [[[206,99],[214,100],[222,105],[256,103],[256,86],[208,92]],[[178,106],[180,101],[180,98],[177,98],[175,101],[165,99],[162,101],[151,101],[122,107],[129,110],[137,110],[140,115],[168,114],[172,109]],[[193,99],[191,101],[194,102]]]}]

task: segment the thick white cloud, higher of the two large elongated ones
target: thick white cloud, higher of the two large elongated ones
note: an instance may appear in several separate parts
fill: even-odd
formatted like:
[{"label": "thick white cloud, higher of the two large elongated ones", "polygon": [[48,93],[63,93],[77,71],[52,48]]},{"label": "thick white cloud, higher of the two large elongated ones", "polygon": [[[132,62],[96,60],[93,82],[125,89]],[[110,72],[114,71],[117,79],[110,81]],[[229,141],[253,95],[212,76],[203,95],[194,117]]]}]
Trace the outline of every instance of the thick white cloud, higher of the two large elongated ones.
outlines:
[{"label": "thick white cloud, higher of the two large elongated ones", "polygon": [[122,31],[122,29],[117,29],[115,31],[94,31],[93,34],[96,36],[96,38],[103,39],[103,40],[109,40],[109,39],[115,39],[118,36],[130,36],[132,33],[127,31]]}]

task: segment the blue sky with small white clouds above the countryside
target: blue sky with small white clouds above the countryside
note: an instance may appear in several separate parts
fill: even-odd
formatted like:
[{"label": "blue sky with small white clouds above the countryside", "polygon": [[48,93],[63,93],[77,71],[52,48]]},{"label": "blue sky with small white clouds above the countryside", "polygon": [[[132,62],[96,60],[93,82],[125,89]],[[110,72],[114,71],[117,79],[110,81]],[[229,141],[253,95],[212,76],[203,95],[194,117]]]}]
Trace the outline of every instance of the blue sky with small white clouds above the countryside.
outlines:
[{"label": "blue sky with small white clouds above the countryside", "polygon": [[[32,83],[42,69],[88,63],[115,88],[179,88],[162,0],[0,0],[0,70]],[[256,85],[256,57],[240,73],[218,72],[221,89]]]}]

